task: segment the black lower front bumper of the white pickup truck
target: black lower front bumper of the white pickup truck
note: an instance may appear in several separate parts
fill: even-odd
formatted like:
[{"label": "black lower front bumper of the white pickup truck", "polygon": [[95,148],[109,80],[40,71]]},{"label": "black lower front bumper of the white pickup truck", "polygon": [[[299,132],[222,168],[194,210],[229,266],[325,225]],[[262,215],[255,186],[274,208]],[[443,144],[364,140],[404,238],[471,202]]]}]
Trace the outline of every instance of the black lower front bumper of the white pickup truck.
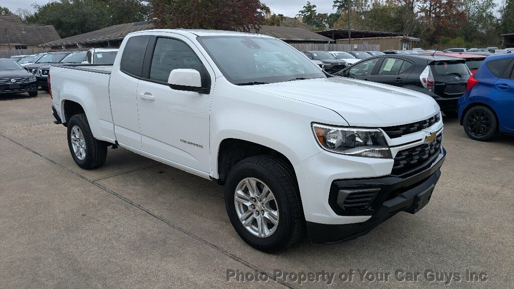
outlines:
[{"label": "black lower front bumper of the white pickup truck", "polygon": [[[344,242],[369,232],[398,212],[416,213],[430,201],[432,191],[441,174],[439,168],[443,165],[445,157],[446,151],[441,148],[440,154],[429,168],[406,178],[390,175],[334,180],[331,189],[331,195],[336,194],[335,200],[331,196],[334,200],[331,202],[334,211],[342,215],[348,214],[349,217],[366,214],[371,215],[371,218],[364,222],[348,224],[321,224],[307,221],[309,239],[315,243]],[[341,200],[341,195],[344,195],[348,188],[374,191],[376,194],[371,198],[370,206],[365,211],[345,212],[342,208],[344,200]]]}]

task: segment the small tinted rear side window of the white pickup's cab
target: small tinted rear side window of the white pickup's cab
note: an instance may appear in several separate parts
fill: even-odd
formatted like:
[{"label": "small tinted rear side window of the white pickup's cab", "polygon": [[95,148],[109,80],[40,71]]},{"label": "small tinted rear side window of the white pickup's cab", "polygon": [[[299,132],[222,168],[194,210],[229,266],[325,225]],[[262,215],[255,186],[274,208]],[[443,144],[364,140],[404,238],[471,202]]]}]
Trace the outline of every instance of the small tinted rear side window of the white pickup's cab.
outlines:
[{"label": "small tinted rear side window of the white pickup's cab", "polygon": [[134,36],[128,39],[121,56],[121,71],[134,77],[141,77],[144,52],[149,40],[150,35]]}]

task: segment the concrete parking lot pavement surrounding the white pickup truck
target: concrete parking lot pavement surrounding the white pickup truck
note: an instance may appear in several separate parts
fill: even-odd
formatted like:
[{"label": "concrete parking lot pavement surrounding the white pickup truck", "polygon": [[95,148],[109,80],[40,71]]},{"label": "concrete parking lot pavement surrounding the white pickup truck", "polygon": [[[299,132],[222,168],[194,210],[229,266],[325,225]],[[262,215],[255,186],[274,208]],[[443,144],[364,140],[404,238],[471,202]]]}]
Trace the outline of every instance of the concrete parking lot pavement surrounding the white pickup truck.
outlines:
[{"label": "concrete parking lot pavement surrounding the white pickup truck", "polygon": [[[237,236],[209,180],[122,148],[80,169],[50,104],[43,92],[0,96],[2,288],[514,287],[514,137],[472,141],[445,118],[448,156],[427,207],[350,242],[267,255]],[[227,281],[237,270],[259,282]],[[309,272],[334,280],[287,274]],[[418,278],[401,281],[408,273]]]}]

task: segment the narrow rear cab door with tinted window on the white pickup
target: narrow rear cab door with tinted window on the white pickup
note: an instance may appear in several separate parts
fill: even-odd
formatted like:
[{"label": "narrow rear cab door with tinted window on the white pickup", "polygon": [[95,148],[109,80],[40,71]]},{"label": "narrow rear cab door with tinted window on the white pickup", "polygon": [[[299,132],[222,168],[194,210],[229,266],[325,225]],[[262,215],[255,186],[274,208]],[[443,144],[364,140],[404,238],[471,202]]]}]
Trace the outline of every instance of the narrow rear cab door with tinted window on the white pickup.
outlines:
[{"label": "narrow rear cab door with tinted window on the white pickup", "polygon": [[[137,110],[137,84],[141,78],[144,53],[150,35],[132,36],[126,42],[120,69],[113,69],[109,83],[111,111],[114,121],[116,140],[126,146],[141,149],[139,117]],[[116,60],[118,61],[118,60]]]}]

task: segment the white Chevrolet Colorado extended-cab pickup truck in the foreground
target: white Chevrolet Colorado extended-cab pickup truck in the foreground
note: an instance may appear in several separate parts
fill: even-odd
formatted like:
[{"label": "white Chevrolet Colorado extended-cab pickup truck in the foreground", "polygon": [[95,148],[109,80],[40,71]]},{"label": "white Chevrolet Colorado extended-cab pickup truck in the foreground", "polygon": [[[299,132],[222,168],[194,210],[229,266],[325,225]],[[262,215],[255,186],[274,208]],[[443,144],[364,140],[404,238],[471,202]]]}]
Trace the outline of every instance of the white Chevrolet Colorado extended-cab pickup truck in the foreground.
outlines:
[{"label": "white Chevrolet Colorado extended-cab pickup truck in the foreground", "polygon": [[265,35],[134,32],[114,65],[54,65],[48,79],[79,167],[120,146],[212,179],[235,231],[267,252],[417,212],[446,155],[430,96],[328,75]]}]

